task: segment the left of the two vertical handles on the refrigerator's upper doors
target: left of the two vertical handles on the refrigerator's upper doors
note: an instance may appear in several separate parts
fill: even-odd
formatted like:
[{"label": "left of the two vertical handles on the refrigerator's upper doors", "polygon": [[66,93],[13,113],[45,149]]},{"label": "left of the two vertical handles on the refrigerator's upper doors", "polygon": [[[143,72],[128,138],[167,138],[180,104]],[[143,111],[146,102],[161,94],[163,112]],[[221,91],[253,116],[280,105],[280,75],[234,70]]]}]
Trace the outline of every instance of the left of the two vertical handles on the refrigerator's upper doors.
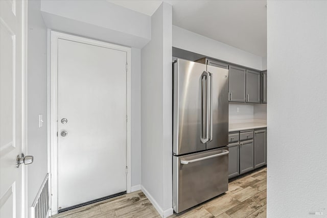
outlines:
[{"label": "left of the two vertical handles on the refrigerator's upper doors", "polygon": [[[208,89],[208,80],[209,80],[209,74],[206,71],[202,72],[201,75],[201,114],[202,114],[202,122],[201,122],[201,142],[206,143],[209,140],[209,101],[208,101],[208,95],[209,89]],[[205,124],[204,124],[205,121]],[[204,134],[205,133],[205,134]]]}]

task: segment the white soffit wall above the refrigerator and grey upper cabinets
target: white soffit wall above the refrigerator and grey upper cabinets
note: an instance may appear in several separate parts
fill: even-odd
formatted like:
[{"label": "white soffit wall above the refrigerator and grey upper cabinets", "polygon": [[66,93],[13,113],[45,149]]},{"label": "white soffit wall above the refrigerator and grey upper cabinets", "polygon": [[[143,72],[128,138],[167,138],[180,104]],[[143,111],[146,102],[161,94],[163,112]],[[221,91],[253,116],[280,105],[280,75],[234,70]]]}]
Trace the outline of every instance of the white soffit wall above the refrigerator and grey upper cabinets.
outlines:
[{"label": "white soffit wall above the refrigerator and grey upper cabinets", "polygon": [[173,46],[223,61],[262,69],[262,57],[176,26],[173,26]]}]

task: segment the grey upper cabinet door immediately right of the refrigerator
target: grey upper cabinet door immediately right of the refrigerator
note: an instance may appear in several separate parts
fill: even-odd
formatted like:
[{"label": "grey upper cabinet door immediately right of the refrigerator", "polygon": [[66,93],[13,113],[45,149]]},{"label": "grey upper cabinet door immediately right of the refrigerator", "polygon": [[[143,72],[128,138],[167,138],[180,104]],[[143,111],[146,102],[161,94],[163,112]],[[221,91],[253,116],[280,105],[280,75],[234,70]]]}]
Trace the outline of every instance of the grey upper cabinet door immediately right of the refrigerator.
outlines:
[{"label": "grey upper cabinet door immediately right of the refrigerator", "polygon": [[245,102],[245,68],[229,66],[229,101]]}]

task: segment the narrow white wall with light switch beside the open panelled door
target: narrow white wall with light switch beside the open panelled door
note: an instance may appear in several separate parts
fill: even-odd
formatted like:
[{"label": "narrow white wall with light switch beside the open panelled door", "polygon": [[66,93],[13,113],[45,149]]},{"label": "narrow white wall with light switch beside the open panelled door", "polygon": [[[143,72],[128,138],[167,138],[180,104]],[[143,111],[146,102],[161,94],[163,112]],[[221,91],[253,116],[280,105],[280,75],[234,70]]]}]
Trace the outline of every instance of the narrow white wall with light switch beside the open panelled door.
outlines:
[{"label": "narrow white wall with light switch beside the open panelled door", "polygon": [[[47,139],[47,77],[46,52],[47,30],[44,25],[40,1],[28,4],[28,151],[34,162],[28,165],[28,206],[37,195],[41,183],[48,173],[48,139]],[[43,127],[39,128],[39,114],[43,115]]]}]

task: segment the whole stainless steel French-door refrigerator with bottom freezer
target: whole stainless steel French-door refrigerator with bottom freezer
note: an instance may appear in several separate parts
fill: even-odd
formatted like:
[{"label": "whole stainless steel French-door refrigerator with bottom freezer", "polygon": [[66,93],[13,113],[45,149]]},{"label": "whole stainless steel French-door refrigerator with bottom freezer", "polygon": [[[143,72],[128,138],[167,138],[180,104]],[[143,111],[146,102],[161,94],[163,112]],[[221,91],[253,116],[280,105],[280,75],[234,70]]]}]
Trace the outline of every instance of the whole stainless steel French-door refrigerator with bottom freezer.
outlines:
[{"label": "whole stainless steel French-door refrigerator with bottom freezer", "polygon": [[228,69],[173,64],[173,208],[228,190]]}]

